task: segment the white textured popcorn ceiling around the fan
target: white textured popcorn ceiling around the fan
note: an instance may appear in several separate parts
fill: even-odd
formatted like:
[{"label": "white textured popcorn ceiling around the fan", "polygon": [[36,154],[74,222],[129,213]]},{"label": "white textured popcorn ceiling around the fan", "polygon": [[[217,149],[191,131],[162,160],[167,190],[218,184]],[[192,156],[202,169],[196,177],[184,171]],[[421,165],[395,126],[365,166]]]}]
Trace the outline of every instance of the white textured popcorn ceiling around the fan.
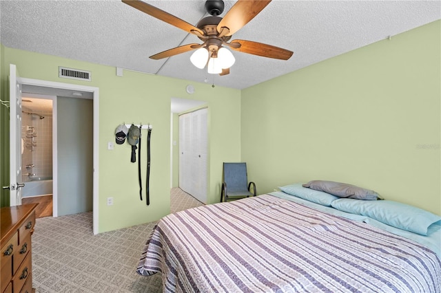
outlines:
[{"label": "white textured popcorn ceiling around the fan", "polygon": [[[194,25],[207,16],[203,0],[145,2]],[[220,17],[234,3],[225,1]],[[0,0],[0,19],[6,47],[244,89],[441,19],[441,1],[274,0],[232,40],[276,45],[294,55],[280,61],[234,51],[236,63],[227,76],[194,67],[192,52],[148,58],[201,41],[118,0]]]}]

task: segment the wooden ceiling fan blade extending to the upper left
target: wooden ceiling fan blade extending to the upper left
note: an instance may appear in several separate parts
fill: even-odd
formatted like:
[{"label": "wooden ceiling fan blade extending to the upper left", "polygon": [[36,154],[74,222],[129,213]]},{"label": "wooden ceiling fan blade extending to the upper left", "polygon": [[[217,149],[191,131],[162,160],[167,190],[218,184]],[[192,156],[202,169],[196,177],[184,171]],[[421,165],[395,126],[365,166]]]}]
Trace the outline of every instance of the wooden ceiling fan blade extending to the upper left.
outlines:
[{"label": "wooden ceiling fan blade extending to the upper left", "polygon": [[179,19],[178,17],[175,17],[174,15],[165,12],[159,8],[156,8],[154,6],[151,6],[150,4],[147,4],[141,0],[121,0],[127,5],[132,6],[133,8],[136,8],[137,10],[140,10],[144,13],[149,14],[152,17],[155,17],[156,19],[159,19],[161,21],[165,21],[166,23],[170,23],[171,25],[176,26],[176,28],[180,28],[181,30],[185,30],[185,32],[189,32],[190,34],[194,34],[193,31],[199,32],[201,34],[205,34],[202,30],[199,30],[194,25],[187,23],[187,21],[183,21],[182,19]]}]

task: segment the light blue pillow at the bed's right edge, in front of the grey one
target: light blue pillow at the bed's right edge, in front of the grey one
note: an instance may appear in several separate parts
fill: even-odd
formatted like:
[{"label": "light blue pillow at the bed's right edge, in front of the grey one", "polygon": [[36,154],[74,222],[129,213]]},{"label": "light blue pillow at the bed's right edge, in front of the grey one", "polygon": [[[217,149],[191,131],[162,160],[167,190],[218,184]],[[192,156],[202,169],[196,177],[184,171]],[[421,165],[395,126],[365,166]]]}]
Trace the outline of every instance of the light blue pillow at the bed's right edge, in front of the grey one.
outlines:
[{"label": "light blue pillow at the bed's right edge, in front of the grey one", "polygon": [[376,219],[384,224],[427,236],[431,224],[441,217],[427,210],[391,200],[360,200],[340,198],[331,203],[338,210]]}]

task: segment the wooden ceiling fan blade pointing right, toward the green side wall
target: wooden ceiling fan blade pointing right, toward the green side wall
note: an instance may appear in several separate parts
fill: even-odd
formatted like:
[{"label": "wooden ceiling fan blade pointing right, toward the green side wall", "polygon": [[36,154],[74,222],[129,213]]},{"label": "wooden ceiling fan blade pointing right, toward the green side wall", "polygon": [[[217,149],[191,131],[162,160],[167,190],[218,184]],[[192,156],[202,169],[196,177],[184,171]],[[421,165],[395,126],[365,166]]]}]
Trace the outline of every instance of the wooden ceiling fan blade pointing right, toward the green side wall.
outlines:
[{"label": "wooden ceiling fan blade pointing right, toward the green side wall", "polygon": [[240,47],[230,46],[232,50],[253,54],[257,56],[263,56],[268,58],[275,58],[281,60],[288,60],[291,58],[293,52],[282,49],[280,47],[276,47],[273,45],[267,45],[264,43],[258,43],[253,41],[245,41],[245,40],[234,40],[231,41],[232,44],[239,43]]}]

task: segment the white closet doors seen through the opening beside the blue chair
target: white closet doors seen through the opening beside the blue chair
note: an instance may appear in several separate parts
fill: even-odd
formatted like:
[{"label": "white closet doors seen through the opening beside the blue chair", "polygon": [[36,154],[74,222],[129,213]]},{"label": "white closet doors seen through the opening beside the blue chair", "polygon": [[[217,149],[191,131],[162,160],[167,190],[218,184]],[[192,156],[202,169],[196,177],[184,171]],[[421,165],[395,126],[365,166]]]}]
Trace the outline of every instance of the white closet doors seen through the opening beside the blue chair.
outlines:
[{"label": "white closet doors seen through the opening beside the blue chair", "polygon": [[207,203],[208,109],[179,116],[179,187]]}]

